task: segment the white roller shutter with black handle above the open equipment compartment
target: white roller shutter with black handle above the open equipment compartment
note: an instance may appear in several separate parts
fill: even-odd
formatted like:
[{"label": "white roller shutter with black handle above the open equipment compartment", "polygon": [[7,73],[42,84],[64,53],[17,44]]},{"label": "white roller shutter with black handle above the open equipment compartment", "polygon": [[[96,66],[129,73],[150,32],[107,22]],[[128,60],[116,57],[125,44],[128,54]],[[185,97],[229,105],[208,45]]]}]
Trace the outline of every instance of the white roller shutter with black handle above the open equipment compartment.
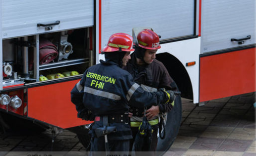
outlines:
[{"label": "white roller shutter with black handle above the open equipment compartment", "polygon": [[[2,37],[13,38],[93,25],[94,1],[82,0],[3,0]],[[37,24],[60,21],[46,31]]]}]

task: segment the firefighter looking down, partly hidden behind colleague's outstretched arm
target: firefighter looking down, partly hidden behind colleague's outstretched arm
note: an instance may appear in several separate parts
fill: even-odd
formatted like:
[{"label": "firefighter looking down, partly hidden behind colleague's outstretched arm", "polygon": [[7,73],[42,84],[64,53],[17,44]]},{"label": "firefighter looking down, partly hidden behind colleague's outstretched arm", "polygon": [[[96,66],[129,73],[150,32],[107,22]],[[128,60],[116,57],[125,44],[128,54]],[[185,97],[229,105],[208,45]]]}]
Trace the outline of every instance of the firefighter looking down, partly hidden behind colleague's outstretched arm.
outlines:
[{"label": "firefighter looking down, partly hidden behind colleague's outstretched arm", "polygon": [[[159,88],[177,91],[176,84],[170,77],[165,66],[155,59],[157,50],[161,48],[159,45],[159,36],[152,30],[145,29],[137,35],[137,42],[138,44],[135,47],[135,52],[131,55],[131,60],[127,63],[127,66],[125,66],[124,69],[130,72],[134,81],[147,91],[156,91]],[[152,141],[150,148],[147,148],[147,144],[140,144],[142,151],[154,151],[149,153],[155,155],[159,127],[158,116],[161,113],[171,111],[173,105],[174,101],[167,104],[147,107],[149,109],[147,109],[145,113],[153,129],[153,133],[151,135]],[[130,150],[132,150],[138,133],[138,128],[143,121],[142,116],[144,115],[144,108],[131,107],[130,114],[131,128],[133,132],[133,139],[131,139],[130,142]],[[144,142],[148,143],[149,141]]]}]

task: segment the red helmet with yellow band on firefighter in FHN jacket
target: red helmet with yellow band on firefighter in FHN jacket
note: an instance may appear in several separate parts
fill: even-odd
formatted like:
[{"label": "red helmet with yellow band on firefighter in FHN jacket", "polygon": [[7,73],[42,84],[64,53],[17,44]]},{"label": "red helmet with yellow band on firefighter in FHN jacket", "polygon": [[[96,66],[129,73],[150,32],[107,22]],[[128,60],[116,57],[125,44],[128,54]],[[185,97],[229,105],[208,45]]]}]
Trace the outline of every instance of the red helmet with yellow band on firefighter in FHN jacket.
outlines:
[{"label": "red helmet with yellow band on firefighter in FHN jacket", "polygon": [[110,36],[107,46],[101,52],[131,52],[133,49],[133,37],[125,33],[115,33]]}]

